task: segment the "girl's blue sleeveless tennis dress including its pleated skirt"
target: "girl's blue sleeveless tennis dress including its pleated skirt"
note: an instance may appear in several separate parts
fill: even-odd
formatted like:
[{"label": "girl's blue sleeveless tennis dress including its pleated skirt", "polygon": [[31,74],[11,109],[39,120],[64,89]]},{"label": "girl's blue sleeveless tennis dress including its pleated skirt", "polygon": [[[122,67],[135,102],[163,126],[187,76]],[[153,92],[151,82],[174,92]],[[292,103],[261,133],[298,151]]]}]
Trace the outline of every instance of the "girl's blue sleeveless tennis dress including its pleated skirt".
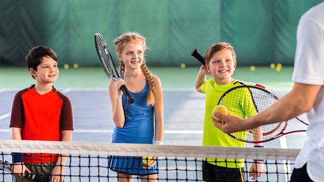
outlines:
[{"label": "girl's blue sleeveless tennis dress including its pleated skirt", "polygon": [[[123,78],[123,75],[121,75],[121,78]],[[138,93],[130,91],[135,99],[133,104],[128,104],[125,95],[122,95],[125,124],[123,128],[115,127],[113,129],[112,143],[153,143],[154,107],[148,106],[146,102],[149,91],[147,81],[143,91]],[[158,161],[151,169],[142,169],[142,157],[110,156],[109,167],[112,171],[129,175],[159,173]]]}]

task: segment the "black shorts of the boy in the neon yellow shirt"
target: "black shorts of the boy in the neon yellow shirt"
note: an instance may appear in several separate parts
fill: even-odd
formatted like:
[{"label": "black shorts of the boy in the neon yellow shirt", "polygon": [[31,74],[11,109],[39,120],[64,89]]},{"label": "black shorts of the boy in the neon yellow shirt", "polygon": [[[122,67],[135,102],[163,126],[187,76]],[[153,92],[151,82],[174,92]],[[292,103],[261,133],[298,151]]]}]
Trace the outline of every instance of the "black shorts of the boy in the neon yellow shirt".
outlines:
[{"label": "black shorts of the boy in the neon yellow shirt", "polygon": [[226,168],[210,164],[203,160],[203,181],[205,182],[244,182],[242,168]]}]

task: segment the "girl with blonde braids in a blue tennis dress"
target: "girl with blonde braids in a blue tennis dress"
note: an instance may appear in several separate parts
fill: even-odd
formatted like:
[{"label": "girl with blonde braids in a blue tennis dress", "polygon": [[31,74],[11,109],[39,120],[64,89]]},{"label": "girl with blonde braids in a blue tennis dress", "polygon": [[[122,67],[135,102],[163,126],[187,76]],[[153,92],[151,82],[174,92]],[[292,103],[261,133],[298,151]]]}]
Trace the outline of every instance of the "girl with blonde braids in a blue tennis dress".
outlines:
[{"label": "girl with blonde braids in a blue tennis dress", "polygon": [[[114,41],[120,60],[121,78],[109,83],[112,120],[115,128],[113,143],[162,144],[163,98],[160,79],[148,70],[144,51],[145,38],[138,33],[126,33]],[[126,85],[135,99],[128,104],[120,86]],[[154,158],[156,159],[156,157]],[[117,173],[118,182],[158,182],[159,166],[142,163],[142,157],[111,156],[109,167]]]}]

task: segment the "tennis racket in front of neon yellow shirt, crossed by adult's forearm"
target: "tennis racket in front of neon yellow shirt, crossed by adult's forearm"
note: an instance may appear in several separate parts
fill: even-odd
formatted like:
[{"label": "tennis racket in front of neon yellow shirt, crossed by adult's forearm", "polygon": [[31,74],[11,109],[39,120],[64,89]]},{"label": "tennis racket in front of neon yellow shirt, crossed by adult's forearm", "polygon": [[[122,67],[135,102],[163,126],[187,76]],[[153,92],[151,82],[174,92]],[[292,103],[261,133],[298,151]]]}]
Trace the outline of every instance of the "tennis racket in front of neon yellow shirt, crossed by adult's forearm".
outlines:
[{"label": "tennis racket in front of neon yellow shirt, crossed by adult's forearm", "polygon": [[[257,86],[242,85],[229,89],[220,97],[217,105],[224,105],[231,115],[251,117],[270,107],[278,97],[271,91]],[[307,123],[296,117],[298,121],[308,126]],[[287,134],[305,132],[306,130],[295,130],[285,132],[288,121],[263,125],[253,130],[235,132],[229,136],[249,143],[261,143],[273,140]]]}]

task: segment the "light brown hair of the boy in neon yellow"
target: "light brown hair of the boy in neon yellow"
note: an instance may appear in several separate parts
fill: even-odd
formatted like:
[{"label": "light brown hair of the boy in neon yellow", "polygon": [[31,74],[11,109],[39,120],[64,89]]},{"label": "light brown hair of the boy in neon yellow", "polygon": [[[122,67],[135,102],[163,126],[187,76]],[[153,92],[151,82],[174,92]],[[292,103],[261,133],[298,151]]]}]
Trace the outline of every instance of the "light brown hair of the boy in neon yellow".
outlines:
[{"label": "light brown hair of the boy in neon yellow", "polygon": [[211,60],[211,58],[213,57],[213,55],[216,52],[223,50],[223,49],[229,49],[232,52],[234,61],[236,62],[236,54],[235,54],[234,48],[228,43],[221,42],[221,43],[214,44],[213,46],[210,46],[206,50],[205,55],[204,55],[206,64],[209,64],[209,61]]}]

